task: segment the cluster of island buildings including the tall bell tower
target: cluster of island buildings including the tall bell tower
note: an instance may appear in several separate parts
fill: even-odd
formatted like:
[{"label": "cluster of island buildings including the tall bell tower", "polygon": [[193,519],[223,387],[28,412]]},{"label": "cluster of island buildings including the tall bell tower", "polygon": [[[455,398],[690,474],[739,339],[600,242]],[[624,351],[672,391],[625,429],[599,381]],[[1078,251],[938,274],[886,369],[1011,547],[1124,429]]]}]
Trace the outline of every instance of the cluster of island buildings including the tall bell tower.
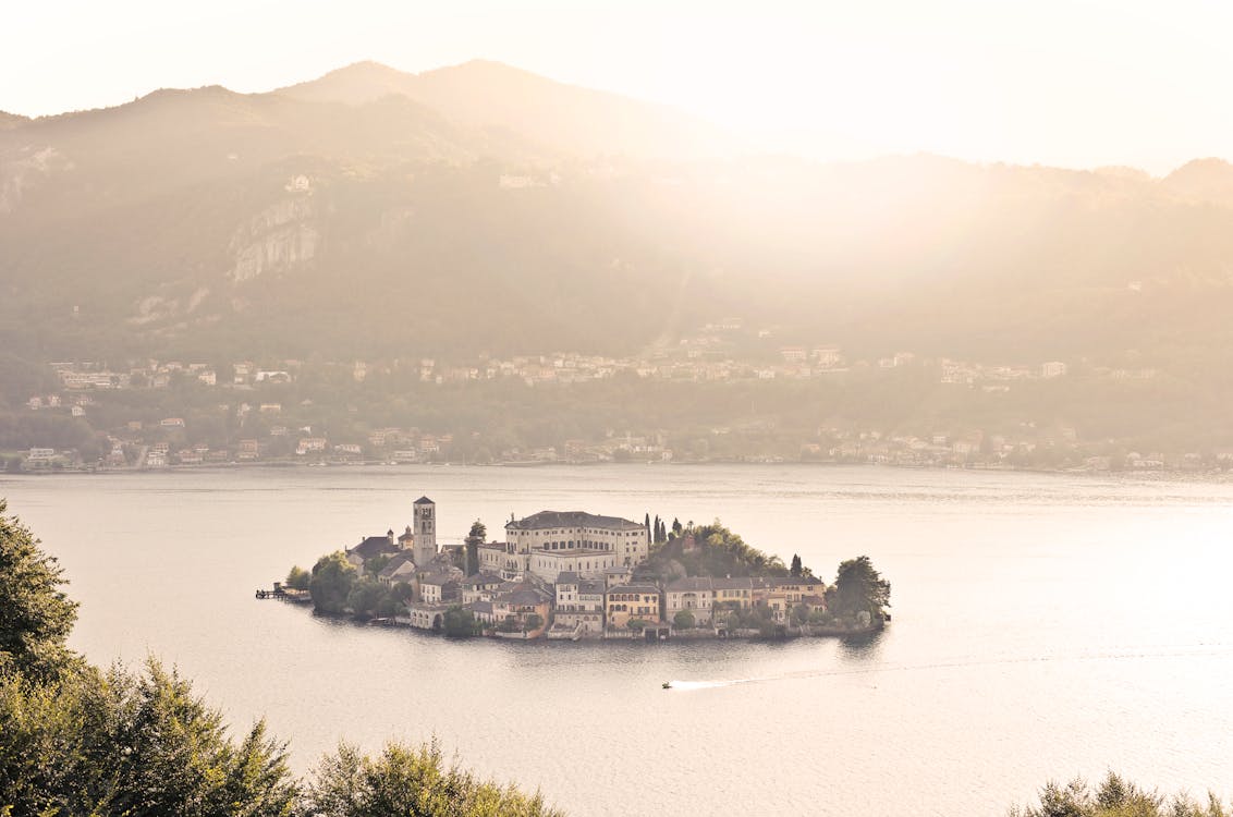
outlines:
[{"label": "cluster of island buildings including the tall bell tower", "polygon": [[[727,612],[760,604],[779,622],[799,605],[826,608],[825,585],[808,575],[665,580],[641,569],[651,543],[644,525],[584,511],[510,519],[504,542],[478,545],[467,575],[459,567],[465,546],[438,545],[435,503],[420,497],[412,515],[401,536],[365,537],[346,558],[365,571],[381,557],[377,580],[409,588],[395,621],[422,630],[444,630],[457,606],[497,637],[665,638],[682,624],[721,635]],[[692,537],[684,547],[694,547]]]}]

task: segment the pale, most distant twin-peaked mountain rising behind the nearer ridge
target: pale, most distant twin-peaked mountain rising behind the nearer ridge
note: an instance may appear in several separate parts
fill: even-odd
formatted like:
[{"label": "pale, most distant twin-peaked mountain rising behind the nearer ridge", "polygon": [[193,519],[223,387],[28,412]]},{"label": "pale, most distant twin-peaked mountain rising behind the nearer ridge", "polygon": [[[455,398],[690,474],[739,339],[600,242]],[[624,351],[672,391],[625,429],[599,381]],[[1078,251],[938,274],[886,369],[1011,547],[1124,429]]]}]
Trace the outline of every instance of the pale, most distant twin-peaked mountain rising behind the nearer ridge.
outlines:
[{"label": "pale, most distant twin-peaked mountain rising behind the nearer ridge", "polygon": [[718,128],[673,108],[480,59],[422,74],[356,63],[275,94],[348,105],[404,96],[460,124],[520,133],[576,156],[698,159],[736,148]]}]

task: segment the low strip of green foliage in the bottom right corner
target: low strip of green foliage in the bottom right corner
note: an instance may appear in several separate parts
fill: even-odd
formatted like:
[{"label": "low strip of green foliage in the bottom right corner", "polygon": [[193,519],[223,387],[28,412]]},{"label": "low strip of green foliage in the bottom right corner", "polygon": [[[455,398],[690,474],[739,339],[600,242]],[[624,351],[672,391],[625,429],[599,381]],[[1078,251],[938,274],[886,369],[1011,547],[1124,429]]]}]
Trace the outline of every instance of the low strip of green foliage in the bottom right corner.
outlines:
[{"label": "low strip of green foliage in the bottom right corner", "polygon": [[1079,778],[1065,785],[1051,780],[1038,803],[1012,807],[1007,817],[1233,817],[1233,810],[1211,792],[1203,802],[1184,794],[1166,799],[1110,771],[1095,791]]}]

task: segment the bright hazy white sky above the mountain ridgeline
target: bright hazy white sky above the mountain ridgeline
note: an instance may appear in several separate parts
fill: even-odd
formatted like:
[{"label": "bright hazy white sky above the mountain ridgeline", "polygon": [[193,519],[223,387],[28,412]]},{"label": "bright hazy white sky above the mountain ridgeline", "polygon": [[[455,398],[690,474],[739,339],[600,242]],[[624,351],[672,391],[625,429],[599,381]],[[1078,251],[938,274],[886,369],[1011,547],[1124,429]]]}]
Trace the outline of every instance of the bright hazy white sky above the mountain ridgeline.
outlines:
[{"label": "bright hazy white sky above the mountain ridgeline", "polygon": [[1233,158],[1233,2],[9,2],[0,110],[261,91],[475,57],[666,102],[824,158],[927,150],[1163,173]]}]

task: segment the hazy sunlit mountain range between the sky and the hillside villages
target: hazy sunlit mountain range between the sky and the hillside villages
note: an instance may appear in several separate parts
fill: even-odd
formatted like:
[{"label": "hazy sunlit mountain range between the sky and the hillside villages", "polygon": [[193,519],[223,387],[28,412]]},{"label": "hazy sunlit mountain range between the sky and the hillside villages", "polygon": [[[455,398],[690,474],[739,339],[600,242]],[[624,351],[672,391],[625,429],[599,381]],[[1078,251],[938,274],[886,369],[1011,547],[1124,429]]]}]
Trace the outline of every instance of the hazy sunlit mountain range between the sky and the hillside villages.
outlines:
[{"label": "hazy sunlit mountain range between the sky and the hillside villages", "polygon": [[1233,340],[1222,160],[1154,179],[745,150],[487,62],[0,113],[0,346],[628,352],[741,317],[859,354],[1203,367]]}]

